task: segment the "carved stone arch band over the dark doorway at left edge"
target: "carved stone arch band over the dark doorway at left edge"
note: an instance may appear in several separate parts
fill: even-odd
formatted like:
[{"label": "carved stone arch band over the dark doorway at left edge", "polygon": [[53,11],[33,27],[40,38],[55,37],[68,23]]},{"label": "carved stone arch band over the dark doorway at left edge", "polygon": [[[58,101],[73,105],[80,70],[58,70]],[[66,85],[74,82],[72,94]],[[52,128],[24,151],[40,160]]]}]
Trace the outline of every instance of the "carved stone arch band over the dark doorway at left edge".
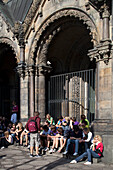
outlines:
[{"label": "carved stone arch band over the dark doorway at left edge", "polygon": [[0,37],[0,43],[4,43],[6,45],[9,45],[9,47],[11,48],[13,54],[15,55],[15,58],[17,60],[17,63],[19,62],[19,57],[18,57],[18,52],[17,52],[17,48],[16,45],[14,44],[14,42],[7,38],[7,37]]}]

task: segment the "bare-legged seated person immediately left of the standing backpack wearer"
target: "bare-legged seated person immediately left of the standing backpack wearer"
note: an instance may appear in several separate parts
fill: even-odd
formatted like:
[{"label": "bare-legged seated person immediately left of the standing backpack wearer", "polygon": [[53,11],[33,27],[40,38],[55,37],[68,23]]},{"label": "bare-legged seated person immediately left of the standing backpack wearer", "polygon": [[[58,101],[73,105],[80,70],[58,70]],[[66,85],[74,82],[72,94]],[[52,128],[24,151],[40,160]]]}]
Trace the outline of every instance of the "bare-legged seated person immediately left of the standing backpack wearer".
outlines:
[{"label": "bare-legged seated person immediately left of the standing backpack wearer", "polygon": [[20,135],[20,146],[23,145],[23,137],[24,137],[24,136],[25,136],[25,141],[26,141],[24,147],[27,147],[27,146],[28,146],[28,135],[29,135],[29,134],[30,134],[29,131],[28,131],[26,128],[24,128],[24,130],[22,131],[22,133],[21,133],[21,135]]}]

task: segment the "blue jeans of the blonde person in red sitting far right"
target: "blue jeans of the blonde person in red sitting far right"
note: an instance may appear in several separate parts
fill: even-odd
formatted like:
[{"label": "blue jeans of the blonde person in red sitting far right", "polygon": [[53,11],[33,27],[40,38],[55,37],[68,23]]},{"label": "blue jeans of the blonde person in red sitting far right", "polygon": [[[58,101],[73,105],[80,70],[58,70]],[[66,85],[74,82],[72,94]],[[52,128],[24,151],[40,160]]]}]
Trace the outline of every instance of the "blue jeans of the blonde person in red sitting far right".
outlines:
[{"label": "blue jeans of the blonde person in red sitting far right", "polygon": [[100,156],[96,152],[92,151],[91,149],[87,149],[87,152],[84,152],[82,155],[77,157],[75,160],[78,162],[80,159],[83,159],[85,156],[88,157],[89,162],[91,162],[91,156],[93,158],[100,158]]}]

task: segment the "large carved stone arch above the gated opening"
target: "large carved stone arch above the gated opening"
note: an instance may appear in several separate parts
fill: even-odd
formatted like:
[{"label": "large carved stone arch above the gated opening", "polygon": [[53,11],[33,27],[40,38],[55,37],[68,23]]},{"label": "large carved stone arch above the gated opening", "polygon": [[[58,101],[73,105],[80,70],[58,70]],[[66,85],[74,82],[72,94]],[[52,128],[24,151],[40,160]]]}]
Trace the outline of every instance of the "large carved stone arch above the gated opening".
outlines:
[{"label": "large carved stone arch above the gated opening", "polygon": [[[62,10],[59,10],[53,13],[39,27],[32,41],[31,48],[29,50],[28,63],[33,62],[34,53],[36,49],[38,49],[39,44],[43,46],[42,44],[45,43],[45,42],[41,42],[41,37],[43,36],[46,29],[49,28],[50,24],[54,23],[55,21],[57,21],[58,19],[62,17],[68,17],[68,16],[78,18],[79,20],[83,21],[83,24],[87,26],[87,29],[90,32],[91,41],[93,42],[94,46],[98,44],[99,42],[99,39],[97,38],[98,32],[97,32],[95,23],[92,20],[92,18],[86,12],[82,11],[81,9],[65,8],[65,9],[62,9]],[[49,39],[49,35],[48,37],[44,37],[44,38],[45,39],[43,41],[46,41],[47,39]]]}]

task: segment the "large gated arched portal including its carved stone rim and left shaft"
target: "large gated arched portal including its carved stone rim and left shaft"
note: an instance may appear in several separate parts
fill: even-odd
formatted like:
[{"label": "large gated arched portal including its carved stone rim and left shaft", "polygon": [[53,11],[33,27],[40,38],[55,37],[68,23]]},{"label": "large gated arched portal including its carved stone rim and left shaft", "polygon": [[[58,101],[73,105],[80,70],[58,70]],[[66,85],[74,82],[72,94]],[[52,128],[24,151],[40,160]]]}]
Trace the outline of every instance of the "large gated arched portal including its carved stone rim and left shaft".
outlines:
[{"label": "large gated arched portal including its carved stone rim and left shaft", "polygon": [[[79,120],[80,114],[89,114],[90,94],[95,91],[94,72],[90,73],[89,70],[95,69],[95,63],[90,61],[87,54],[98,41],[96,34],[92,19],[77,9],[57,12],[42,24],[36,33],[29,61],[32,63],[34,59],[39,66],[38,106],[42,117],[43,113],[49,112],[55,119],[60,115],[78,115]],[[48,71],[47,60],[52,67],[49,75],[45,75],[45,71]],[[79,75],[76,75],[76,72],[79,72]]]}]

